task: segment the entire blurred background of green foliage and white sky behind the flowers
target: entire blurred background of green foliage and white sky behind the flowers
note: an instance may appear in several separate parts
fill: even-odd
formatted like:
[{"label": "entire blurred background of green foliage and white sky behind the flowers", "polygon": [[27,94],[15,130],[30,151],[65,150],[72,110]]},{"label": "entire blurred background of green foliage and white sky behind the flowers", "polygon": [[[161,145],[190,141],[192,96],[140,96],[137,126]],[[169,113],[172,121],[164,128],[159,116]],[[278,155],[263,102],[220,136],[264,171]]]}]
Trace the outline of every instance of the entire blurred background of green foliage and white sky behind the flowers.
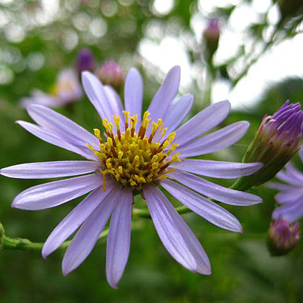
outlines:
[{"label": "entire blurred background of green foliage and white sky behind the flowers", "polygon": [[[213,18],[220,38],[212,56],[203,33]],[[108,59],[125,72],[136,66],[144,79],[143,108],[175,64],[181,66],[180,93],[195,96],[190,116],[228,98],[232,111],[221,126],[247,120],[249,131],[231,148],[205,158],[240,162],[265,114],[288,98],[302,102],[302,30],[300,0],[0,0],[0,167],[80,159],[15,121],[30,121],[20,99],[35,88],[51,93],[60,71],[75,68],[82,47],[90,49],[97,66]],[[86,97],[58,111],[88,130],[101,125]],[[297,156],[292,161],[303,170]],[[43,242],[80,200],[36,212],[10,207],[18,192],[40,183],[0,176],[0,220],[8,236]],[[276,192],[266,186],[251,192],[264,203],[226,207],[242,223],[242,234],[183,215],[211,260],[211,276],[182,268],[151,220],[137,219],[140,228],[132,232],[118,290],[106,281],[105,241],[67,277],[61,273],[62,252],[43,260],[39,252],[1,250],[0,301],[303,302],[302,241],[287,256],[271,257],[266,237]]]}]

